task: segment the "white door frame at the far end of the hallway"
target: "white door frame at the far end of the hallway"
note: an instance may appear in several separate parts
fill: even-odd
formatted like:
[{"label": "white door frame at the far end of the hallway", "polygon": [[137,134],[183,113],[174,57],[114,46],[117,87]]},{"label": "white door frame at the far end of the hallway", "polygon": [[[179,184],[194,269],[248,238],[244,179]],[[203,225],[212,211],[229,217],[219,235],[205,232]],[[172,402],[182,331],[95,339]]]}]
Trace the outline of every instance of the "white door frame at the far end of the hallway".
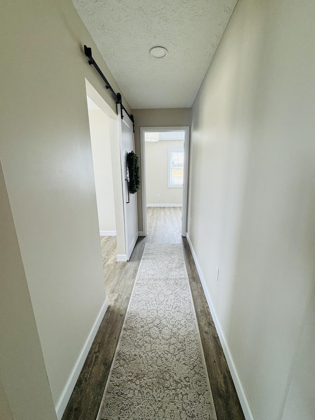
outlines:
[{"label": "white door frame at the far end of the hallway", "polygon": [[146,162],[145,162],[145,132],[184,131],[184,183],[183,183],[183,208],[182,208],[182,236],[187,235],[187,209],[188,209],[188,173],[189,173],[189,126],[182,127],[140,127],[141,150],[141,193],[142,193],[142,230],[147,236],[147,190],[146,190]]}]

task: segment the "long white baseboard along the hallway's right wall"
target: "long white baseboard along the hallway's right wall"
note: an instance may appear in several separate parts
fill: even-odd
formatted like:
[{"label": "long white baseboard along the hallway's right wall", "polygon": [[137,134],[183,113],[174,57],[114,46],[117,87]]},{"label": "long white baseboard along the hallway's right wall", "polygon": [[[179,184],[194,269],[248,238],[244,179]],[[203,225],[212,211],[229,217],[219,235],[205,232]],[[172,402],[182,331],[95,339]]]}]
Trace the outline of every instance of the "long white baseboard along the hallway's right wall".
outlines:
[{"label": "long white baseboard along the hallway's right wall", "polygon": [[196,265],[196,268],[197,268],[197,271],[198,271],[198,274],[199,274],[199,277],[200,277],[202,288],[203,288],[203,291],[205,293],[205,296],[206,296],[206,299],[207,299],[207,302],[208,302],[208,305],[209,305],[209,309],[210,309],[213,321],[214,321],[215,326],[217,328],[217,332],[218,332],[218,335],[219,335],[219,338],[220,338],[223,353],[225,355],[227,365],[230,369],[231,376],[232,376],[234,386],[235,386],[237,395],[239,397],[239,400],[240,400],[240,403],[241,403],[241,406],[242,406],[242,409],[243,409],[245,419],[246,420],[254,420],[254,417],[252,415],[252,410],[250,408],[250,404],[249,404],[247,396],[246,396],[245,389],[243,388],[241,378],[239,377],[239,374],[238,374],[236,366],[234,364],[231,352],[230,352],[229,347],[227,345],[225,335],[223,333],[223,330],[221,328],[221,324],[219,322],[219,318],[218,318],[217,313],[215,311],[215,308],[213,306],[213,303],[212,303],[210,294],[208,292],[208,289],[207,289],[207,286],[206,286],[206,283],[205,283],[205,280],[204,280],[204,277],[203,277],[203,274],[202,274],[202,271],[201,271],[201,268],[200,268],[200,265],[199,265],[199,262],[198,262],[198,259],[197,259],[197,256],[196,256],[196,253],[193,249],[193,246],[192,246],[192,243],[190,241],[188,233],[187,233],[186,237],[187,237],[187,240],[188,240],[188,243],[189,243],[189,248],[190,248],[193,260],[195,262],[195,265]]}]

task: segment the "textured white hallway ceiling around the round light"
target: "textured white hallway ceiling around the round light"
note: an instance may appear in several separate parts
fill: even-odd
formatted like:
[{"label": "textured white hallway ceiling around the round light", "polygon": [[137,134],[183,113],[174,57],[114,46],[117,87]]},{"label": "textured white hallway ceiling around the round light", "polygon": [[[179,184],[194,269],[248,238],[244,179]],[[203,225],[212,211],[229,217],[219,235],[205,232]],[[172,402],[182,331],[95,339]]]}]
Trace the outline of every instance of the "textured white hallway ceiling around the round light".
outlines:
[{"label": "textured white hallway ceiling around the round light", "polygon": [[132,109],[192,105],[236,1],[72,0]]}]

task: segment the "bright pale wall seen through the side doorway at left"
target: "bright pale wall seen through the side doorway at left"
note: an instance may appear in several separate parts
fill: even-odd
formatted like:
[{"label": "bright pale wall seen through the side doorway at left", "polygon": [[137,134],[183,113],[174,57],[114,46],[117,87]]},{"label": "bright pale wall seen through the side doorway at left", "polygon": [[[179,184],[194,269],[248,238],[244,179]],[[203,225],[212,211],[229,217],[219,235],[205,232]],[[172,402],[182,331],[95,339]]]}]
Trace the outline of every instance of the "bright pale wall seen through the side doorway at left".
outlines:
[{"label": "bright pale wall seen through the side doorway at left", "polygon": [[116,231],[109,118],[101,110],[89,110],[93,168],[100,231]]}]

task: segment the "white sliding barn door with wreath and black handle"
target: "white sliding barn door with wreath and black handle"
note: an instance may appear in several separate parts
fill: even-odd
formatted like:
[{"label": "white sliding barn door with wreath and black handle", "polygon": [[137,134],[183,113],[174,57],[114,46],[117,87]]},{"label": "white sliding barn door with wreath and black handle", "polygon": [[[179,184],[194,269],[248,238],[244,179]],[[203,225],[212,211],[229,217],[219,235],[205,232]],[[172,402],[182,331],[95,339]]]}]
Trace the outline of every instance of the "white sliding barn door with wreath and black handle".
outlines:
[{"label": "white sliding barn door with wreath and black handle", "polygon": [[137,194],[128,193],[128,182],[126,181],[127,153],[134,151],[133,123],[124,110],[124,118],[121,118],[120,104],[117,105],[117,112],[123,177],[126,258],[128,261],[138,239]]}]

